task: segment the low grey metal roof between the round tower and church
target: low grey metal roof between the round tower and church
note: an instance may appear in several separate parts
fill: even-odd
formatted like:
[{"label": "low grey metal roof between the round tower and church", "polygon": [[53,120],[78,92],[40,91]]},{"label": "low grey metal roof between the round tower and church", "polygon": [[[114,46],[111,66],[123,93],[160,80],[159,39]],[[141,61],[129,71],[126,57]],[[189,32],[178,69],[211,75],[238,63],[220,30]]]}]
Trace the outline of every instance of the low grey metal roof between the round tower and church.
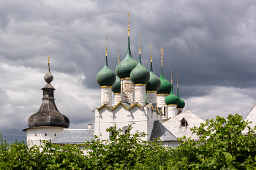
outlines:
[{"label": "low grey metal roof between the round tower and church", "polygon": [[53,144],[83,144],[94,139],[94,129],[64,129]]}]

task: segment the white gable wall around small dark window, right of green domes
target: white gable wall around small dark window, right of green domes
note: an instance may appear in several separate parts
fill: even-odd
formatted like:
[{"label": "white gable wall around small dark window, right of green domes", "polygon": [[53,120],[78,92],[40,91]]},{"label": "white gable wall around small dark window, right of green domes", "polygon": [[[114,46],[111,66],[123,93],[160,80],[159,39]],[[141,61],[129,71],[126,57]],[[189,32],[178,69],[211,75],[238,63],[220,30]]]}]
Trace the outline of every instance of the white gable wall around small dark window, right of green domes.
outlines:
[{"label": "white gable wall around small dark window, right of green domes", "polygon": [[[187,126],[181,126],[182,119],[187,120]],[[200,127],[201,123],[206,123],[206,121],[187,109],[185,112],[181,112],[179,115],[166,120],[162,125],[164,125],[170,133],[176,136],[176,138],[186,136],[187,138],[191,137],[193,140],[198,140],[198,136],[196,134],[192,135],[190,128],[193,128],[194,126]]]}]

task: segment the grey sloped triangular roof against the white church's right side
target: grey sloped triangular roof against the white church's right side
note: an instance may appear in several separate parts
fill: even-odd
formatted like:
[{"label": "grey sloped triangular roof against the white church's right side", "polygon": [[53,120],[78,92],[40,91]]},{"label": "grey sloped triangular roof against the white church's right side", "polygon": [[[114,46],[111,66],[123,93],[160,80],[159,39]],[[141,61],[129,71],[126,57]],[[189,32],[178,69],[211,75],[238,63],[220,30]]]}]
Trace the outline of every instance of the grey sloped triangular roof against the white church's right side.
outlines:
[{"label": "grey sloped triangular roof against the white church's right side", "polygon": [[170,133],[162,123],[159,123],[159,120],[155,120],[149,141],[154,141],[154,139],[157,139],[158,137],[161,141],[177,141],[176,136]]}]

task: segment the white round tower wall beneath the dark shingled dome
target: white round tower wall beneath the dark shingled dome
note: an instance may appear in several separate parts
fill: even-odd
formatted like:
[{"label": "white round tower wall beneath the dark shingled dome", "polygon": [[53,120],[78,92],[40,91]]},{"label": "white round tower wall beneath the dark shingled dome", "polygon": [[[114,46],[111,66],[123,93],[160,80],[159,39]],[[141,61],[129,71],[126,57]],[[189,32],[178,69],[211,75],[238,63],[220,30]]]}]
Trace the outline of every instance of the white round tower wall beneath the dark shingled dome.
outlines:
[{"label": "white round tower wall beneath the dark shingled dome", "polygon": [[[29,128],[26,130],[26,142],[31,145],[42,145],[42,140],[53,142],[59,134],[63,131],[63,128]],[[45,136],[46,134],[46,136]]]}]

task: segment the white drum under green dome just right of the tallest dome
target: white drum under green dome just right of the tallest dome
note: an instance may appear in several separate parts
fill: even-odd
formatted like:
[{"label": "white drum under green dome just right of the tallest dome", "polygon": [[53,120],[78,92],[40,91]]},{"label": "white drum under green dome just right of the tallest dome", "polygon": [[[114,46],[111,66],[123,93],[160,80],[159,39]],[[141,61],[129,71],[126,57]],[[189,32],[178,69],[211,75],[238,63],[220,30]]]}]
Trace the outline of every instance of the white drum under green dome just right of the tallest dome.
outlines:
[{"label": "white drum under green dome just right of the tallest dome", "polygon": [[143,84],[135,85],[135,103],[140,104],[140,106],[145,106],[145,104],[146,104],[146,85],[143,85]]}]

